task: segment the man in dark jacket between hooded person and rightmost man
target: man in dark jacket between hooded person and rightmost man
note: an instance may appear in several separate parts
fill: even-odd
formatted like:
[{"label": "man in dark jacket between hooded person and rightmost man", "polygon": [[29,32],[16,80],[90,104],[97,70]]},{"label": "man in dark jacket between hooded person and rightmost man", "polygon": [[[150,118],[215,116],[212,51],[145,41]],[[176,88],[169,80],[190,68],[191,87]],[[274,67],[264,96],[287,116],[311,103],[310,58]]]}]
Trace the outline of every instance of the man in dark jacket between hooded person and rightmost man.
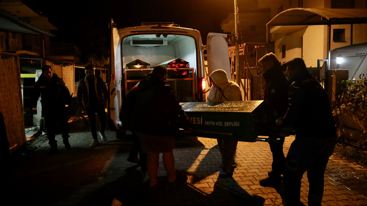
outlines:
[{"label": "man in dark jacket between hooded person and rightmost man", "polygon": [[[275,187],[281,184],[281,174],[286,167],[286,158],[283,153],[284,137],[277,135],[277,126],[275,120],[278,117],[283,117],[286,114],[288,106],[288,89],[287,78],[283,74],[283,67],[276,59],[273,53],[266,54],[259,59],[263,70],[266,87],[264,102],[269,103],[270,111],[268,111],[269,121],[269,139],[277,140],[269,142],[270,151],[273,154],[272,171],[269,172],[269,177],[260,180],[260,185],[263,187]],[[284,68],[285,70],[286,68]]]}]

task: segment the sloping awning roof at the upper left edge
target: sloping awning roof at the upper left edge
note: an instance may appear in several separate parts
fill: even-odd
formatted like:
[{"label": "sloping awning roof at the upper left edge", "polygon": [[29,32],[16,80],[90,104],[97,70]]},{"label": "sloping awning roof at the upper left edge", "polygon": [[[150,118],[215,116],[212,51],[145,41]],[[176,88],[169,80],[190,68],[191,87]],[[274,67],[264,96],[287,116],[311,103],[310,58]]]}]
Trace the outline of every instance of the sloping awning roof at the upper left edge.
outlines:
[{"label": "sloping awning roof at the upper left edge", "polygon": [[15,16],[4,10],[0,10],[0,22],[0,31],[36,35],[46,34],[48,36],[55,36],[45,30],[30,25],[18,16]]}]

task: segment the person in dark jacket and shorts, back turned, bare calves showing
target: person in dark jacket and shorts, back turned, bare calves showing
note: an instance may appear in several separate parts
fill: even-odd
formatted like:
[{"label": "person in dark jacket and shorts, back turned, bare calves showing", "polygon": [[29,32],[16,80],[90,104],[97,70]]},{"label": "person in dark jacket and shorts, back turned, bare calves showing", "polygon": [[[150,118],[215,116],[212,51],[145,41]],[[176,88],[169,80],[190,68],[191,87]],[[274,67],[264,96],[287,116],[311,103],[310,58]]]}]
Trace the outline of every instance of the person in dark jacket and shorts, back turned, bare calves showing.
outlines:
[{"label": "person in dark jacket and shorts, back turned, bare calves showing", "polygon": [[166,80],[167,68],[162,65],[156,66],[150,78],[140,81],[132,111],[131,128],[139,137],[142,151],[148,153],[146,166],[150,187],[157,184],[161,152],[163,152],[163,165],[168,174],[168,182],[187,180],[186,176],[181,178],[175,173],[173,135],[178,129],[178,123],[181,124],[181,128],[188,129],[189,121]]}]

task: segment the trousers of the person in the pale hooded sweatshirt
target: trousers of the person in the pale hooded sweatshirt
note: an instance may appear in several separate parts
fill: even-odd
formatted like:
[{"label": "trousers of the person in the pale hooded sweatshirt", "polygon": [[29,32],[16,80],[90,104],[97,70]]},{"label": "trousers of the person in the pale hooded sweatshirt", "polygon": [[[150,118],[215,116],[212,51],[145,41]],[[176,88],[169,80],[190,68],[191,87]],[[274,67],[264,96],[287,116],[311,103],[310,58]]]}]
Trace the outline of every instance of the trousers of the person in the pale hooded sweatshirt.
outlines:
[{"label": "trousers of the person in the pale hooded sweatshirt", "polygon": [[234,156],[238,141],[217,139],[219,152],[222,155],[222,169],[229,172],[230,167],[235,161]]}]

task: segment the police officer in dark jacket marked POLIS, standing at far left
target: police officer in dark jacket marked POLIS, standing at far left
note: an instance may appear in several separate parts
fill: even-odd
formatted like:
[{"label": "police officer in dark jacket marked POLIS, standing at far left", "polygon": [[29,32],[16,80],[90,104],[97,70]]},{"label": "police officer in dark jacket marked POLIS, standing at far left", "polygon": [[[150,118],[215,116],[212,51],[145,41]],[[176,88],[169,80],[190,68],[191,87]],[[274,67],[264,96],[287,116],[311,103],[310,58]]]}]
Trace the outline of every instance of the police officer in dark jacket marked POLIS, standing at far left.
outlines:
[{"label": "police officer in dark jacket marked POLIS, standing at far left", "polygon": [[70,93],[62,78],[52,73],[51,66],[42,67],[42,75],[34,84],[32,95],[32,114],[37,114],[37,101],[41,96],[42,114],[45,118],[50,154],[57,152],[55,126],[57,122],[62,130],[62,139],[66,149],[70,149],[69,128],[66,109],[70,105]]}]

